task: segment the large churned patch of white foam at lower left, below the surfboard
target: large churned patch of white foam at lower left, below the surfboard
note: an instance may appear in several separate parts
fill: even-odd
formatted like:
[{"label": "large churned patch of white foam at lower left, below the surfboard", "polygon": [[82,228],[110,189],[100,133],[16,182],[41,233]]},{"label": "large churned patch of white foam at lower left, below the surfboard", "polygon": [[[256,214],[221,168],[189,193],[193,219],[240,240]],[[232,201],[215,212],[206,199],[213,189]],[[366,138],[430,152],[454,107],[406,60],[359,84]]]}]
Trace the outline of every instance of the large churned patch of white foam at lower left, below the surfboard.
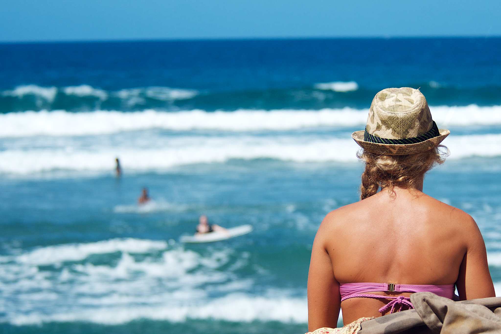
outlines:
[{"label": "large churned patch of white foam at lower left, below the surfboard", "polygon": [[[122,252],[117,263],[68,262],[115,250]],[[131,255],[137,252],[141,256]],[[249,254],[229,248],[198,253],[167,248],[155,240],[111,239],[45,246],[1,260],[0,322],[117,324],[140,318],[305,322],[307,316],[304,294],[286,289],[250,294],[254,280],[238,279],[234,273],[248,265]],[[39,269],[46,264],[58,269]]]}]

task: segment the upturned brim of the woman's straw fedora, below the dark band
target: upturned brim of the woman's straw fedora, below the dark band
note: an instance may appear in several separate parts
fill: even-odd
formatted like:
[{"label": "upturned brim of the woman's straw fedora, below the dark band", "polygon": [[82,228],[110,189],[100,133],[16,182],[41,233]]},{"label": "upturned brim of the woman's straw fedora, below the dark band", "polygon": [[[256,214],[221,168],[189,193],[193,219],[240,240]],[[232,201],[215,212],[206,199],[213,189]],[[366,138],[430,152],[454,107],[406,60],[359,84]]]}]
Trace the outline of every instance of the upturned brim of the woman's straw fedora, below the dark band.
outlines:
[{"label": "upturned brim of the woman's straw fedora, below the dark band", "polygon": [[407,154],[415,154],[421,153],[428,150],[431,150],[438,144],[442,142],[450,134],[449,130],[438,129],[439,136],[430,138],[425,140],[424,142],[415,143],[415,144],[379,144],[373,142],[364,141],[364,131],[355,131],[352,133],[351,137],[355,140],[355,142],[360,145],[365,151],[380,153],[380,154],[388,154],[388,155],[407,155]]}]

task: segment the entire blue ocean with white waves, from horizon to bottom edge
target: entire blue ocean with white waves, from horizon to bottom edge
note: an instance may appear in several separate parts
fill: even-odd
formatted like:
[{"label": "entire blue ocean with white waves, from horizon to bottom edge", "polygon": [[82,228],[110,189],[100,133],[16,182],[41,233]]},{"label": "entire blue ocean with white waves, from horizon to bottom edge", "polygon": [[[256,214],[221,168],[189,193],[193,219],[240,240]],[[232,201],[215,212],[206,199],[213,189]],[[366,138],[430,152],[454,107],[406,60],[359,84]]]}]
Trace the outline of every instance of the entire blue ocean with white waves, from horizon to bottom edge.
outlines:
[{"label": "entire blue ocean with white waves, from horizon to bottom edge", "polygon": [[[501,38],[0,44],[0,332],[307,331],[312,241],[358,200],[351,133],[387,87],[420,88],[451,131],[424,191],[476,220],[500,295],[499,50]],[[143,187],[152,201],[138,206]],[[201,214],[254,231],[180,243]]]}]

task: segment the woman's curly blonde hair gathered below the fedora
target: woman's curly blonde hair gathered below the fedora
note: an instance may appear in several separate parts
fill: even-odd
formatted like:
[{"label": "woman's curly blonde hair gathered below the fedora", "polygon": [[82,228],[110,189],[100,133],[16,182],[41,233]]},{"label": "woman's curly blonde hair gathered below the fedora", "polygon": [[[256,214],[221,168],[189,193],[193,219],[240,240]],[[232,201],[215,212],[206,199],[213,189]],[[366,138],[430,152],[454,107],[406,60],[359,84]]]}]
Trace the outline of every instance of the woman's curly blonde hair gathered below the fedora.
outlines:
[{"label": "woman's curly blonde hair gathered below the fedora", "polygon": [[409,155],[387,155],[360,150],[357,157],[365,162],[360,199],[374,195],[379,188],[387,188],[393,193],[394,187],[416,188],[424,174],[435,165],[442,164],[448,154],[449,150],[443,145]]}]

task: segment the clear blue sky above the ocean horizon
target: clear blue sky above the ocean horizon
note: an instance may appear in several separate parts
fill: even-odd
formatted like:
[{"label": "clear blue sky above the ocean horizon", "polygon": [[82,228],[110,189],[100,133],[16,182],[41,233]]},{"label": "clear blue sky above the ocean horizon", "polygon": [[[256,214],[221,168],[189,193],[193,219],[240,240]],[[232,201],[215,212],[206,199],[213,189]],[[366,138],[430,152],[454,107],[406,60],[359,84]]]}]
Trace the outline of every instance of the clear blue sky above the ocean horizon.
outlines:
[{"label": "clear blue sky above the ocean horizon", "polygon": [[500,0],[12,0],[0,41],[500,36]]}]

